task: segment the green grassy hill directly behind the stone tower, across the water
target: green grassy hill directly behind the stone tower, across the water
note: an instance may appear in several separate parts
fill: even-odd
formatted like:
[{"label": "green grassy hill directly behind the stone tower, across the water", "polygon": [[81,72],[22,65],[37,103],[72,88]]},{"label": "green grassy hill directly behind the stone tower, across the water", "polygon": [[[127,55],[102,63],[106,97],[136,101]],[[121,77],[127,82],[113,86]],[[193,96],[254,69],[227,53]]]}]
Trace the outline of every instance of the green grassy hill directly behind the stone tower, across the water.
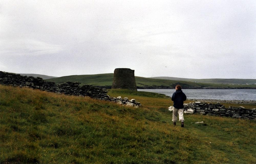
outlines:
[{"label": "green grassy hill directly behind the stone tower, across the water", "polygon": [[[95,75],[71,75],[62,76],[59,78],[47,79],[56,83],[65,83],[67,81],[78,81],[81,85],[92,84],[103,88],[111,88],[113,82],[113,73],[95,74]],[[210,83],[195,83],[190,81],[176,81],[164,79],[152,79],[135,76],[135,81],[138,89],[168,89],[175,88],[177,84],[182,85],[184,89],[194,88],[220,88],[220,89],[236,89],[236,88],[255,88],[256,85],[230,85],[230,84],[210,84]]]}]

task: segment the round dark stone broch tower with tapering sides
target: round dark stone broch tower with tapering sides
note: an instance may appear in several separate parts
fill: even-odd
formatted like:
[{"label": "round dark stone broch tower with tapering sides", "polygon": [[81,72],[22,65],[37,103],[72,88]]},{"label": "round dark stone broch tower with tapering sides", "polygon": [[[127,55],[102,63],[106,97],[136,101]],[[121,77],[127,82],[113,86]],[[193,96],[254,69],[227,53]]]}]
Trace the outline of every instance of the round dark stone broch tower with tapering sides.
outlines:
[{"label": "round dark stone broch tower with tapering sides", "polygon": [[129,68],[116,68],[114,71],[112,89],[129,89],[137,91],[134,70]]}]

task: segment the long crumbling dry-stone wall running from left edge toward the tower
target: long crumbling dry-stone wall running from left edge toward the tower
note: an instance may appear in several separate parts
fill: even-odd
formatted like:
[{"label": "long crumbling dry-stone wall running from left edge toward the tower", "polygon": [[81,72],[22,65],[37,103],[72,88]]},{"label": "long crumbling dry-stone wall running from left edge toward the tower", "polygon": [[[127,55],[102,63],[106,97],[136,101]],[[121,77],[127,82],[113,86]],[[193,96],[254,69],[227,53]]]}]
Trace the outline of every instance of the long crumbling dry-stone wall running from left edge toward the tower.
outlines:
[{"label": "long crumbling dry-stone wall running from left edge toward the tower", "polygon": [[[106,100],[117,102],[119,104],[139,107],[141,103],[134,99],[129,100],[127,97],[115,98],[107,95],[108,90],[94,87],[93,85],[80,86],[79,82],[66,82],[63,84],[55,84],[55,82],[47,82],[42,78],[35,78],[33,76],[21,76],[20,74],[8,73],[0,71],[0,84],[12,85],[18,87],[26,87],[32,89],[39,89],[47,92],[54,92],[59,94],[73,95],[73,96],[89,96],[93,99]],[[121,103],[120,103],[121,102]]]}]

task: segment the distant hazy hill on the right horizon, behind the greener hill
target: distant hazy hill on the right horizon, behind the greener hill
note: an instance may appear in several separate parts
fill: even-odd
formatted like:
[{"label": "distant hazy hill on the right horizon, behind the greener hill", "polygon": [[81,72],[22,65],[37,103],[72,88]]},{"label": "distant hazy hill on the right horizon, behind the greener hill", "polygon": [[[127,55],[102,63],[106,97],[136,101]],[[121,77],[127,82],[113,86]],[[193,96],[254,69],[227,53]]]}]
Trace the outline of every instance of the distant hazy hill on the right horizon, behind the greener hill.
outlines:
[{"label": "distant hazy hill on the right horizon, behind the greener hill", "polygon": [[188,79],[175,77],[152,77],[153,79],[191,81],[200,83],[216,83],[216,84],[255,84],[256,79]]}]

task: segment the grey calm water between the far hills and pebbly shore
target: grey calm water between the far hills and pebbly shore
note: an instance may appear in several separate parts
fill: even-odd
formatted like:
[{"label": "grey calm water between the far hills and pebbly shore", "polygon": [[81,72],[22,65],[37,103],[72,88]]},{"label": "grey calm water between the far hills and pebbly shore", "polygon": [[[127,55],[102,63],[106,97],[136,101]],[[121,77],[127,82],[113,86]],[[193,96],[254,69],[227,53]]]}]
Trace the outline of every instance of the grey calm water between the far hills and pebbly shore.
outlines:
[{"label": "grey calm water between the far hills and pebbly shore", "polygon": [[[138,91],[173,95],[175,89],[138,89]],[[255,89],[182,89],[188,99],[217,99],[217,100],[254,100]]]}]

